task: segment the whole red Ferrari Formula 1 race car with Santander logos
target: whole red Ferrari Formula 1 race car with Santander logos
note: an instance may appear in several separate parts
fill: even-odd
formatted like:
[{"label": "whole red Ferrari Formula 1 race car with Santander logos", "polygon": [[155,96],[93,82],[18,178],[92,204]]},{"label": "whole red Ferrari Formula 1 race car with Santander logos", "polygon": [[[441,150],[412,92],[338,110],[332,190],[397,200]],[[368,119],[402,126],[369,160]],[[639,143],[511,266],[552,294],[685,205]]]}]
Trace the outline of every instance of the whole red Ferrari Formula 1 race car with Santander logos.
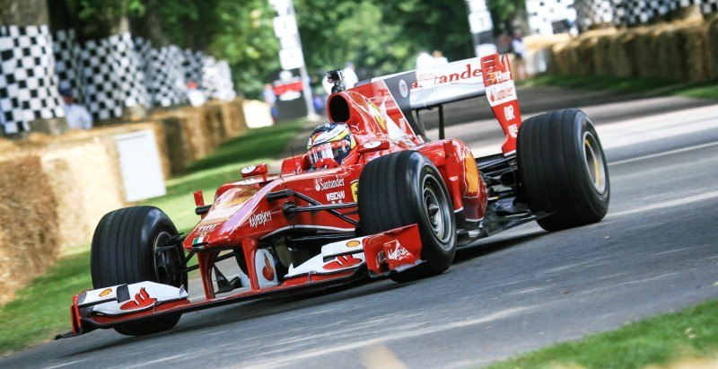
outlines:
[{"label": "whole red Ferrari Formula 1 race car with Santander logos", "polygon": [[[152,206],[105,215],[92,239],[94,289],[74,295],[72,331],[59,338],[93,329],[145,335],[228,303],[366,277],[435,276],[457,248],[518,224],[557,231],[606,215],[609,171],[591,120],[569,109],[521,123],[505,57],[349,90],[340,71],[328,79],[330,123],[311,135],[307,154],[285,159],[276,175],[266,164],[242,168],[243,180],[217,189],[212,204],[197,191],[200,219],[187,235]],[[443,137],[443,105],[482,95],[505,140],[502,153],[475,158]],[[431,141],[418,111],[433,108],[440,139]],[[228,259],[231,275],[218,265]],[[190,299],[188,272],[197,268],[204,295]]]}]

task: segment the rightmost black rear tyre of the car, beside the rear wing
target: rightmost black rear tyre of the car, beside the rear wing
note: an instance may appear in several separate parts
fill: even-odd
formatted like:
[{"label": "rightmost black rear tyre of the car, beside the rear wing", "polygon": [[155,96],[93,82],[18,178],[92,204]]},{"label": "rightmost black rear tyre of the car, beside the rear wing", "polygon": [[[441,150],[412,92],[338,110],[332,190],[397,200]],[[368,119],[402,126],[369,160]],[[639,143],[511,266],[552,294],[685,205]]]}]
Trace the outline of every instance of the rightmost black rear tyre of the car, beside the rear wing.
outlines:
[{"label": "rightmost black rear tyre of the car, beside the rear wing", "polygon": [[591,120],[577,109],[527,119],[516,148],[521,195],[537,223],[560,231],[599,222],[609,210],[609,167]]}]

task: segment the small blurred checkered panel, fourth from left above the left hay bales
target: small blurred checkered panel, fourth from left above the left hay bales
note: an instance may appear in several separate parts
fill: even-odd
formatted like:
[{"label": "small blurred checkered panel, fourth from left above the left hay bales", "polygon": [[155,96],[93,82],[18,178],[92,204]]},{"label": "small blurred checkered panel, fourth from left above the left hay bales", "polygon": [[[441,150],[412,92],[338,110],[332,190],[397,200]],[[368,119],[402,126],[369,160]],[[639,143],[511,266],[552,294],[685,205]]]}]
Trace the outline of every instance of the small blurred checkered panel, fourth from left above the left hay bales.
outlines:
[{"label": "small blurred checkered panel, fourth from left above the left hay bales", "polygon": [[150,48],[144,63],[149,76],[147,90],[155,105],[168,107],[185,101],[184,56],[180,48]]}]

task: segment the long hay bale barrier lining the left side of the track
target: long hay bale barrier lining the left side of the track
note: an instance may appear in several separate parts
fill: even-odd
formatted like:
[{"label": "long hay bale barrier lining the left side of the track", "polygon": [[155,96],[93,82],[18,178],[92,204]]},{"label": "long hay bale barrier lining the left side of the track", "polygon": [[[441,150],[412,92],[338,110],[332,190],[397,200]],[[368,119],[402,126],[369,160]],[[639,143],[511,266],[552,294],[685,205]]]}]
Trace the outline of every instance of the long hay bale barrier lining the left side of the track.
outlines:
[{"label": "long hay bale barrier lining the left side of the track", "polygon": [[[167,176],[241,135],[247,103],[161,110],[144,122],[113,121],[62,136],[0,138],[0,304],[11,301],[64,250],[89,244],[103,215],[127,206],[116,136],[153,130]],[[266,104],[249,104],[267,110],[266,117],[258,115],[271,124]]]}]

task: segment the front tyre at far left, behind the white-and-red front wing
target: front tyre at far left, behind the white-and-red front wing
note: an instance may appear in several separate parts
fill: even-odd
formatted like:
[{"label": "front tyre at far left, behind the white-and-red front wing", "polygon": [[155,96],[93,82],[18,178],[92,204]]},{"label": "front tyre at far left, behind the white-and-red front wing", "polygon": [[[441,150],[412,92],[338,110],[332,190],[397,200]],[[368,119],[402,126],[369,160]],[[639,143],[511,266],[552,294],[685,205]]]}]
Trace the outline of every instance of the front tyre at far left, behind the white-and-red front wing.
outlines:
[{"label": "front tyre at far left, behind the white-and-red front wing", "polygon": [[[103,216],[92,236],[90,269],[95,289],[152,281],[175,287],[187,286],[187,273],[180,274],[184,251],[155,253],[155,249],[177,235],[177,228],[162,210],[133,206]],[[126,336],[144,336],[171,329],[181,313],[125,323],[115,328]]]}]

